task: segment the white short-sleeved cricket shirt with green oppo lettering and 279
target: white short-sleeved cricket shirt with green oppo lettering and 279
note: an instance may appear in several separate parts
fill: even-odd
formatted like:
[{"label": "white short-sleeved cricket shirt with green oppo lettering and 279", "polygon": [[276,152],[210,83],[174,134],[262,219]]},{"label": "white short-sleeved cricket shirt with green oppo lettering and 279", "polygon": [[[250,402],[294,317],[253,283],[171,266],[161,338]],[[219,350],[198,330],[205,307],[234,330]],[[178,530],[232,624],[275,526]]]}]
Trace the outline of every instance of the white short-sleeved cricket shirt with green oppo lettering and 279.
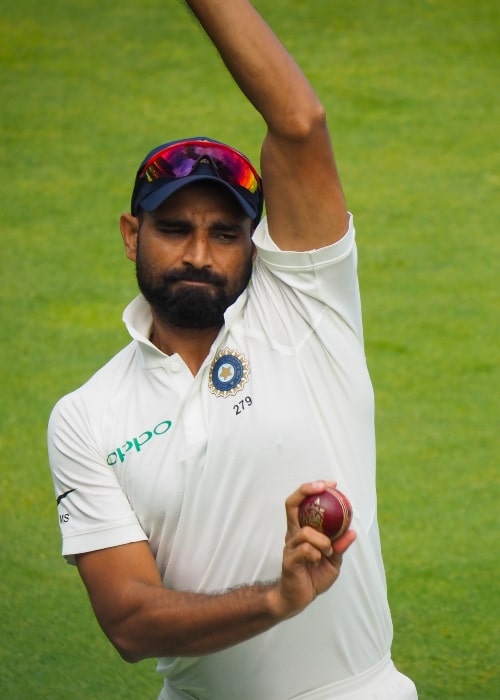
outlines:
[{"label": "white short-sleeved cricket shirt with green oppo lettering and 279", "polygon": [[[50,421],[57,496],[74,489],[59,503],[64,556],[147,539],[172,589],[277,578],[284,501],[302,482],[335,479],[352,501],[358,539],[330,591],[227,651],[160,659],[169,700],[337,697],[335,684],[379,664],[391,645],[354,229],[330,247],[287,253],[264,220],[254,241],[249,288],[195,377],[149,342],[138,297],[124,314],[132,342]],[[230,392],[231,366],[219,380],[211,370],[224,350],[242,370]]]}]

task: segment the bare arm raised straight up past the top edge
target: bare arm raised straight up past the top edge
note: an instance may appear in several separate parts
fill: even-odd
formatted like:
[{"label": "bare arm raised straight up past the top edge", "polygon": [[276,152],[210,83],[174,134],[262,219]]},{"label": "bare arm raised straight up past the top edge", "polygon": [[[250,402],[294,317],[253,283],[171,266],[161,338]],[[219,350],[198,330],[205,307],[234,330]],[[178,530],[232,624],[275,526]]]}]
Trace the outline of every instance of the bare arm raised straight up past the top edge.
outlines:
[{"label": "bare arm raised straight up past the top edge", "polygon": [[308,80],[246,0],[186,0],[267,124],[261,170],[269,230],[283,250],[343,236],[347,212],[324,108]]}]

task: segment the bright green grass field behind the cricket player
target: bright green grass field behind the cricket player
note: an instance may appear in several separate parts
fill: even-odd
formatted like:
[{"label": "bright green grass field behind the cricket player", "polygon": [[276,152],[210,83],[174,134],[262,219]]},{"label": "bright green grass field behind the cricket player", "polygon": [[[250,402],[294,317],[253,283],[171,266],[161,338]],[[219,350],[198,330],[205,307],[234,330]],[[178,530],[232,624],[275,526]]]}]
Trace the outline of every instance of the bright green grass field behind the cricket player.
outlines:
[{"label": "bright green grass field behind the cricket player", "polygon": [[[327,106],[356,215],[395,661],[421,700],[493,700],[500,6],[255,4]],[[127,342],[143,154],[206,133],[257,158],[263,126],[174,0],[18,0],[0,37],[0,696],[153,699],[154,662],[118,658],[60,558],[46,423]]]}]

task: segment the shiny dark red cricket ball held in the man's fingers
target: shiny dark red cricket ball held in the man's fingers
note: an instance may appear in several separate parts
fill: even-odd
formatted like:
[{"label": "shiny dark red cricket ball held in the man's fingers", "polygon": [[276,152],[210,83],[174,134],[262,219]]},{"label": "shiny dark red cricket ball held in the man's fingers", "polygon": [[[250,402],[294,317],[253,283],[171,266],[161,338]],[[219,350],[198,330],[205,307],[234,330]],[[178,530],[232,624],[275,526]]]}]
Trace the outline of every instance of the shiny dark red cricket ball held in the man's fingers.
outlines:
[{"label": "shiny dark red cricket ball held in the man's fingers", "polygon": [[332,542],[342,537],[351,520],[352,506],[338,489],[306,496],[299,506],[300,526],[309,525],[328,535]]}]

